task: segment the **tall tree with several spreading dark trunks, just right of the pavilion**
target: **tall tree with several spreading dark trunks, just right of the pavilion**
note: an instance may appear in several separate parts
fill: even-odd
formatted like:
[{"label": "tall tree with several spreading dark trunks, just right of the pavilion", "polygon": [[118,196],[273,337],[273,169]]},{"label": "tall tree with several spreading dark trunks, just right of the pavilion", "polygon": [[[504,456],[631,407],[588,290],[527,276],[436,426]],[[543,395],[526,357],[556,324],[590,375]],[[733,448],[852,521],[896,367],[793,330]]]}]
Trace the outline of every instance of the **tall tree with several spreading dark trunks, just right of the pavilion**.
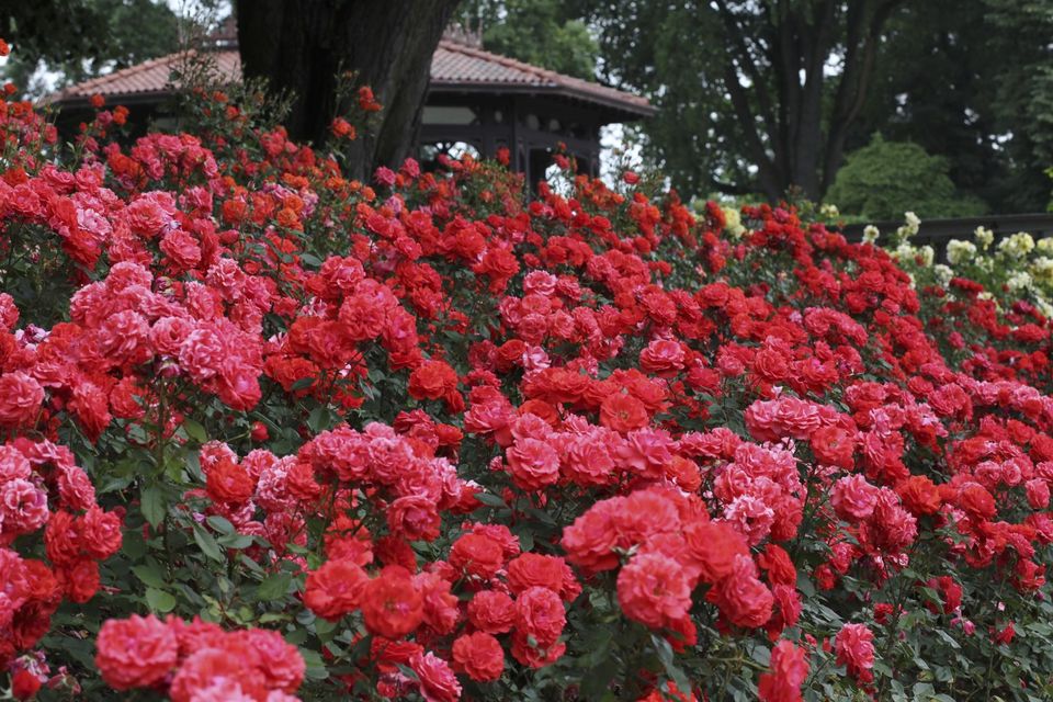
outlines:
[{"label": "tall tree with several spreading dark trunks, just right of the pavilion", "polygon": [[818,199],[840,166],[906,0],[584,0],[601,72],[661,113],[647,148],[682,190],[792,186]]}]

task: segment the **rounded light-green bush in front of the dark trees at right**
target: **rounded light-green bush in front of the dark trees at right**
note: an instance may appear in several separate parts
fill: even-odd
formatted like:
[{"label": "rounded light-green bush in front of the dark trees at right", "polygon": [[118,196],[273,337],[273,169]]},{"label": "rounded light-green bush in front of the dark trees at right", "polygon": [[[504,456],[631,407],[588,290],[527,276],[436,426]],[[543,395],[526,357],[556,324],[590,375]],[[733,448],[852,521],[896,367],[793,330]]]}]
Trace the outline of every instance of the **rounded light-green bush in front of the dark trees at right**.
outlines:
[{"label": "rounded light-green bush in front of the dark trees at right", "polygon": [[948,161],[917,144],[885,141],[874,134],[868,146],[850,154],[826,200],[846,216],[888,220],[915,212],[921,217],[983,214],[984,203],[959,193]]}]

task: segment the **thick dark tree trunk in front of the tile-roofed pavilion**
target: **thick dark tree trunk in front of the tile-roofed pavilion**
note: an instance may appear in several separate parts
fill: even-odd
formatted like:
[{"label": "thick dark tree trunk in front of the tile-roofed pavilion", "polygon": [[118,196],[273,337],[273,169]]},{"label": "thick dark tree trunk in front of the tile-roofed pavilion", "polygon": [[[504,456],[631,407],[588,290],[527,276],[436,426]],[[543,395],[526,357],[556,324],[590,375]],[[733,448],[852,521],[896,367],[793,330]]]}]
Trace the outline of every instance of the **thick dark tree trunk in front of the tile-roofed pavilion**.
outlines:
[{"label": "thick dark tree trunk in front of the tile-roofed pavilion", "polygon": [[352,172],[410,155],[431,57],[460,0],[237,0],[242,72],[294,93],[293,139],[325,139],[340,105],[339,72],[358,72],[384,105],[375,134],[360,136]]}]

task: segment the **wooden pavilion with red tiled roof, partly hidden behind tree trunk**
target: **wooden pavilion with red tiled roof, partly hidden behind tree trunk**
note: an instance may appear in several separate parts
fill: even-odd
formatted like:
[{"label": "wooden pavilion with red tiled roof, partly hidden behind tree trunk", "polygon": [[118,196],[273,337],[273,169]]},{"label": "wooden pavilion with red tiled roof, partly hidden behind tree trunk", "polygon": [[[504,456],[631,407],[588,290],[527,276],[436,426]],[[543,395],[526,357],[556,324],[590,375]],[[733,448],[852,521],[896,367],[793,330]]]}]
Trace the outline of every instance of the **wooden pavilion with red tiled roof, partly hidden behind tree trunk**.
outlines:
[{"label": "wooden pavilion with red tiled roof, partly hidden behind tree trunk", "polygon": [[[240,78],[240,57],[233,35],[214,38],[207,50],[220,78]],[[71,86],[53,95],[61,109],[60,126],[75,125],[90,113],[99,94],[110,105],[123,104],[134,121],[172,120],[177,86],[172,54]],[[492,157],[509,149],[511,167],[534,183],[544,176],[551,154],[564,144],[581,172],[596,176],[600,163],[600,127],[654,114],[645,98],[608,86],[564,76],[482,48],[477,37],[448,32],[431,61],[431,80],[418,156],[427,167],[443,152],[467,150]]]}]

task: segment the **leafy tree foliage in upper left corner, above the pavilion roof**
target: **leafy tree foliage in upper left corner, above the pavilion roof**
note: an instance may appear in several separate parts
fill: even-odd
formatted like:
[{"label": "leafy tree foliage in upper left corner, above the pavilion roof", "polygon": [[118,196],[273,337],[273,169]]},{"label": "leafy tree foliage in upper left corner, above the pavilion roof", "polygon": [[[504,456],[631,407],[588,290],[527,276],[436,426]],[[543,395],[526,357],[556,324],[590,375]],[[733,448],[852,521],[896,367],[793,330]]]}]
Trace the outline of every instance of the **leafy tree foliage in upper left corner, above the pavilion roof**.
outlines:
[{"label": "leafy tree foliage in upper left corner, above the pavilion roof", "polygon": [[[179,45],[176,13],[154,0],[0,2],[0,36],[15,49],[3,78],[31,97],[169,54]],[[31,81],[38,68],[50,80]]]}]

